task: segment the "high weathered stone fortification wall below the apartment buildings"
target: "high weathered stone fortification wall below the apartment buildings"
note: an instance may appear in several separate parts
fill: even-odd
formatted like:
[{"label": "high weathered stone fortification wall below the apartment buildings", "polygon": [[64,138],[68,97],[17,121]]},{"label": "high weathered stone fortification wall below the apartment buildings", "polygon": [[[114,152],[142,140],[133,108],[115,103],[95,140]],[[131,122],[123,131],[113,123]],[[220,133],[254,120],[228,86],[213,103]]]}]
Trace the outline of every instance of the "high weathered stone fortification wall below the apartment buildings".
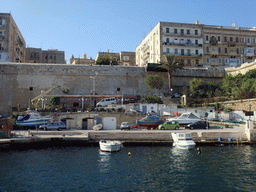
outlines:
[{"label": "high weathered stone fortification wall below the apartment buildings", "polygon": [[[84,66],[61,64],[0,64],[0,113],[10,114],[12,107],[30,107],[30,100],[56,85],[70,89],[69,95],[90,95],[95,76],[95,90],[99,95],[146,95],[149,93],[145,78],[149,74],[144,67]],[[164,88],[168,92],[166,73],[158,73],[164,78]],[[178,70],[173,74],[175,87],[188,86],[194,78],[219,82],[225,76],[220,70]],[[120,90],[120,91],[117,91]],[[55,89],[50,95],[64,95]]]}]

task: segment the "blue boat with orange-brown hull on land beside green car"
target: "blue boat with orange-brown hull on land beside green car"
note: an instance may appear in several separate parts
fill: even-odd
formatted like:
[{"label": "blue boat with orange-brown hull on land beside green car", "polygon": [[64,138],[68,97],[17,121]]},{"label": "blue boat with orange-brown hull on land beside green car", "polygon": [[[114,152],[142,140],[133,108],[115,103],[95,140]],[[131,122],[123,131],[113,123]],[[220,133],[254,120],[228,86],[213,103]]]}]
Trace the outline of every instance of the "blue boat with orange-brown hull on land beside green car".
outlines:
[{"label": "blue boat with orange-brown hull on land beside green car", "polygon": [[158,125],[164,123],[164,117],[146,116],[140,120],[136,120],[138,127],[156,128]]}]

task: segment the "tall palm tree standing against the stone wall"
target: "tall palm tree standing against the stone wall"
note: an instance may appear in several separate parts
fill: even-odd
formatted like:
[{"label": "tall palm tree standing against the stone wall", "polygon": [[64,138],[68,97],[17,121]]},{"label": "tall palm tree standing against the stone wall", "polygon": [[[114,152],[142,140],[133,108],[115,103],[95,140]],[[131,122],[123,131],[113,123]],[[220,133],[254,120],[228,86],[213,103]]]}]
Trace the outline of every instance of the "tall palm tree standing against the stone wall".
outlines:
[{"label": "tall palm tree standing against the stone wall", "polygon": [[168,80],[169,80],[169,93],[171,94],[172,89],[172,73],[177,69],[183,69],[184,65],[175,58],[174,55],[165,55],[164,61],[161,62],[161,68],[167,70]]}]

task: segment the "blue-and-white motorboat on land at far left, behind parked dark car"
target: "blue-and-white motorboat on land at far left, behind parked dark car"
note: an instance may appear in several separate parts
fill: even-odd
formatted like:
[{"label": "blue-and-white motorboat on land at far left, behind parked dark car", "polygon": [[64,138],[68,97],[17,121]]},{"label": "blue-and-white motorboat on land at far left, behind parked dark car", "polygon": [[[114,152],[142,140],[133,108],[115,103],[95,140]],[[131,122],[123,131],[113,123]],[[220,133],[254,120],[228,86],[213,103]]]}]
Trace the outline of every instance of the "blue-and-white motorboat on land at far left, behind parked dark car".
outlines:
[{"label": "blue-and-white motorboat on land at far left, behind parked dark car", "polygon": [[52,118],[41,117],[36,112],[29,112],[25,116],[19,116],[16,120],[16,125],[18,127],[39,127],[40,125],[47,124]]}]

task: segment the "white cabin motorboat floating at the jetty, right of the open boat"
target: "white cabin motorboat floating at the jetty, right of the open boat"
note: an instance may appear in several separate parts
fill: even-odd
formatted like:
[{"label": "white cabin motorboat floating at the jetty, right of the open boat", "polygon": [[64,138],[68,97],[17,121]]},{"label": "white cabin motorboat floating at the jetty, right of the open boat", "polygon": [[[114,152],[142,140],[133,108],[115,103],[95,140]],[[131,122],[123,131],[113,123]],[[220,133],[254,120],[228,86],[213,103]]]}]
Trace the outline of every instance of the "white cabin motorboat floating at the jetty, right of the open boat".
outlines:
[{"label": "white cabin motorboat floating at the jetty, right of the open boat", "polygon": [[173,146],[180,149],[193,149],[196,143],[192,140],[191,133],[172,133]]}]

